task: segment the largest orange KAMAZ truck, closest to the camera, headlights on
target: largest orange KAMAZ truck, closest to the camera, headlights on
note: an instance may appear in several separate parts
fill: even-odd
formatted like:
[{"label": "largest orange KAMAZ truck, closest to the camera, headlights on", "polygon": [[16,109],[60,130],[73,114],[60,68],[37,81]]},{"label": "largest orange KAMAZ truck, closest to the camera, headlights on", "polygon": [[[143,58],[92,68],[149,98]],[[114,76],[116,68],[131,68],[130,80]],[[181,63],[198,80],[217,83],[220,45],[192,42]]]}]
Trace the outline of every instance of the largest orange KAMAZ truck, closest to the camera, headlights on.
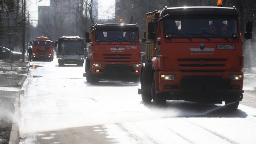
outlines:
[{"label": "largest orange KAMAZ truck, closest to the camera, headlights on", "polygon": [[[251,38],[247,23],[245,39]],[[235,7],[165,7],[146,14],[144,102],[185,100],[226,104],[243,99],[243,41]]]}]

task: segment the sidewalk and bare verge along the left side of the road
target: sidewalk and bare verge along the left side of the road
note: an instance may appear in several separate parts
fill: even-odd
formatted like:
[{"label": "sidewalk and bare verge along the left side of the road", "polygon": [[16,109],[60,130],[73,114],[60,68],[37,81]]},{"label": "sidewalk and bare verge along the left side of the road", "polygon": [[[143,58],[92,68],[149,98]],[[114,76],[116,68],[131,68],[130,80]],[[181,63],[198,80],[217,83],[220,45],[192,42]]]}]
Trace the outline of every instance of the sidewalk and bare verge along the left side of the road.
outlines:
[{"label": "sidewalk and bare verge along the left side of the road", "polygon": [[14,103],[20,94],[28,73],[28,58],[25,62],[14,61],[12,69],[6,60],[0,60],[0,144],[8,144],[15,113]]}]

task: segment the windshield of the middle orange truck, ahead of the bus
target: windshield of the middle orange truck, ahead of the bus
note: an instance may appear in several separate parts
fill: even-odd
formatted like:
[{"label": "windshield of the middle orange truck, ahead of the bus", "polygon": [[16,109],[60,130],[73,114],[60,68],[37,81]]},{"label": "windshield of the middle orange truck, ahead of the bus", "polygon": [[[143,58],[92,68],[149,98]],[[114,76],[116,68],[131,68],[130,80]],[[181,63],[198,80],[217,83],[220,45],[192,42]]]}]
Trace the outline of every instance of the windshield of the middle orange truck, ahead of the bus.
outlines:
[{"label": "windshield of the middle orange truck, ahead of the bus", "polygon": [[135,42],[139,41],[138,31],[96,31],[96,41]]}]

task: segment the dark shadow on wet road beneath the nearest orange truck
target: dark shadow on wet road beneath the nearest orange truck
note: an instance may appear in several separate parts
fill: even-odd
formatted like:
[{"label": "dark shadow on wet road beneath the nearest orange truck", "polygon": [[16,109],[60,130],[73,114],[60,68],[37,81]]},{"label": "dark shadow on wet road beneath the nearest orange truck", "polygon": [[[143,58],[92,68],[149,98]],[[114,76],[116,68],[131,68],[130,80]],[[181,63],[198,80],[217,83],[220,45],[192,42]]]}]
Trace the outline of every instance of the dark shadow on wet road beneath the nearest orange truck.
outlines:
[{"label": "dark shadow on wet road beneath the nearest orange truck", "polygon": [[246,118],[247,113],[239,110],[230,111],[225,108],[224,104],[206,104],[188,101],[167,101],[165,105],[156,106],[154,103],[143,103],[144,106],[152,111],[163,111],[165,113],[175,113],[169,117],[226,117],[226,118]]}]

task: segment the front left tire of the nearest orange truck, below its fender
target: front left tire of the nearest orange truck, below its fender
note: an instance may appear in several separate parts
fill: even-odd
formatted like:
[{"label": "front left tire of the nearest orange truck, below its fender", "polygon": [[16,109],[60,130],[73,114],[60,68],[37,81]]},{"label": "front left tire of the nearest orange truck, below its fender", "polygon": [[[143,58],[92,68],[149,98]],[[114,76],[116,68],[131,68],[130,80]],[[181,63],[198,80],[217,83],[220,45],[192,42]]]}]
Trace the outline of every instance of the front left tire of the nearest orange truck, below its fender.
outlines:
[{"label": "front left tire of the nearest orange truck, below its fender", "polygon": [[156,93],[156,85],[155,85],[154,75],[152,77],[152,83],[151,83],[151,95],[152,95],[153,102],[156,105],[166,104],[166,98],[162,94]]}]

